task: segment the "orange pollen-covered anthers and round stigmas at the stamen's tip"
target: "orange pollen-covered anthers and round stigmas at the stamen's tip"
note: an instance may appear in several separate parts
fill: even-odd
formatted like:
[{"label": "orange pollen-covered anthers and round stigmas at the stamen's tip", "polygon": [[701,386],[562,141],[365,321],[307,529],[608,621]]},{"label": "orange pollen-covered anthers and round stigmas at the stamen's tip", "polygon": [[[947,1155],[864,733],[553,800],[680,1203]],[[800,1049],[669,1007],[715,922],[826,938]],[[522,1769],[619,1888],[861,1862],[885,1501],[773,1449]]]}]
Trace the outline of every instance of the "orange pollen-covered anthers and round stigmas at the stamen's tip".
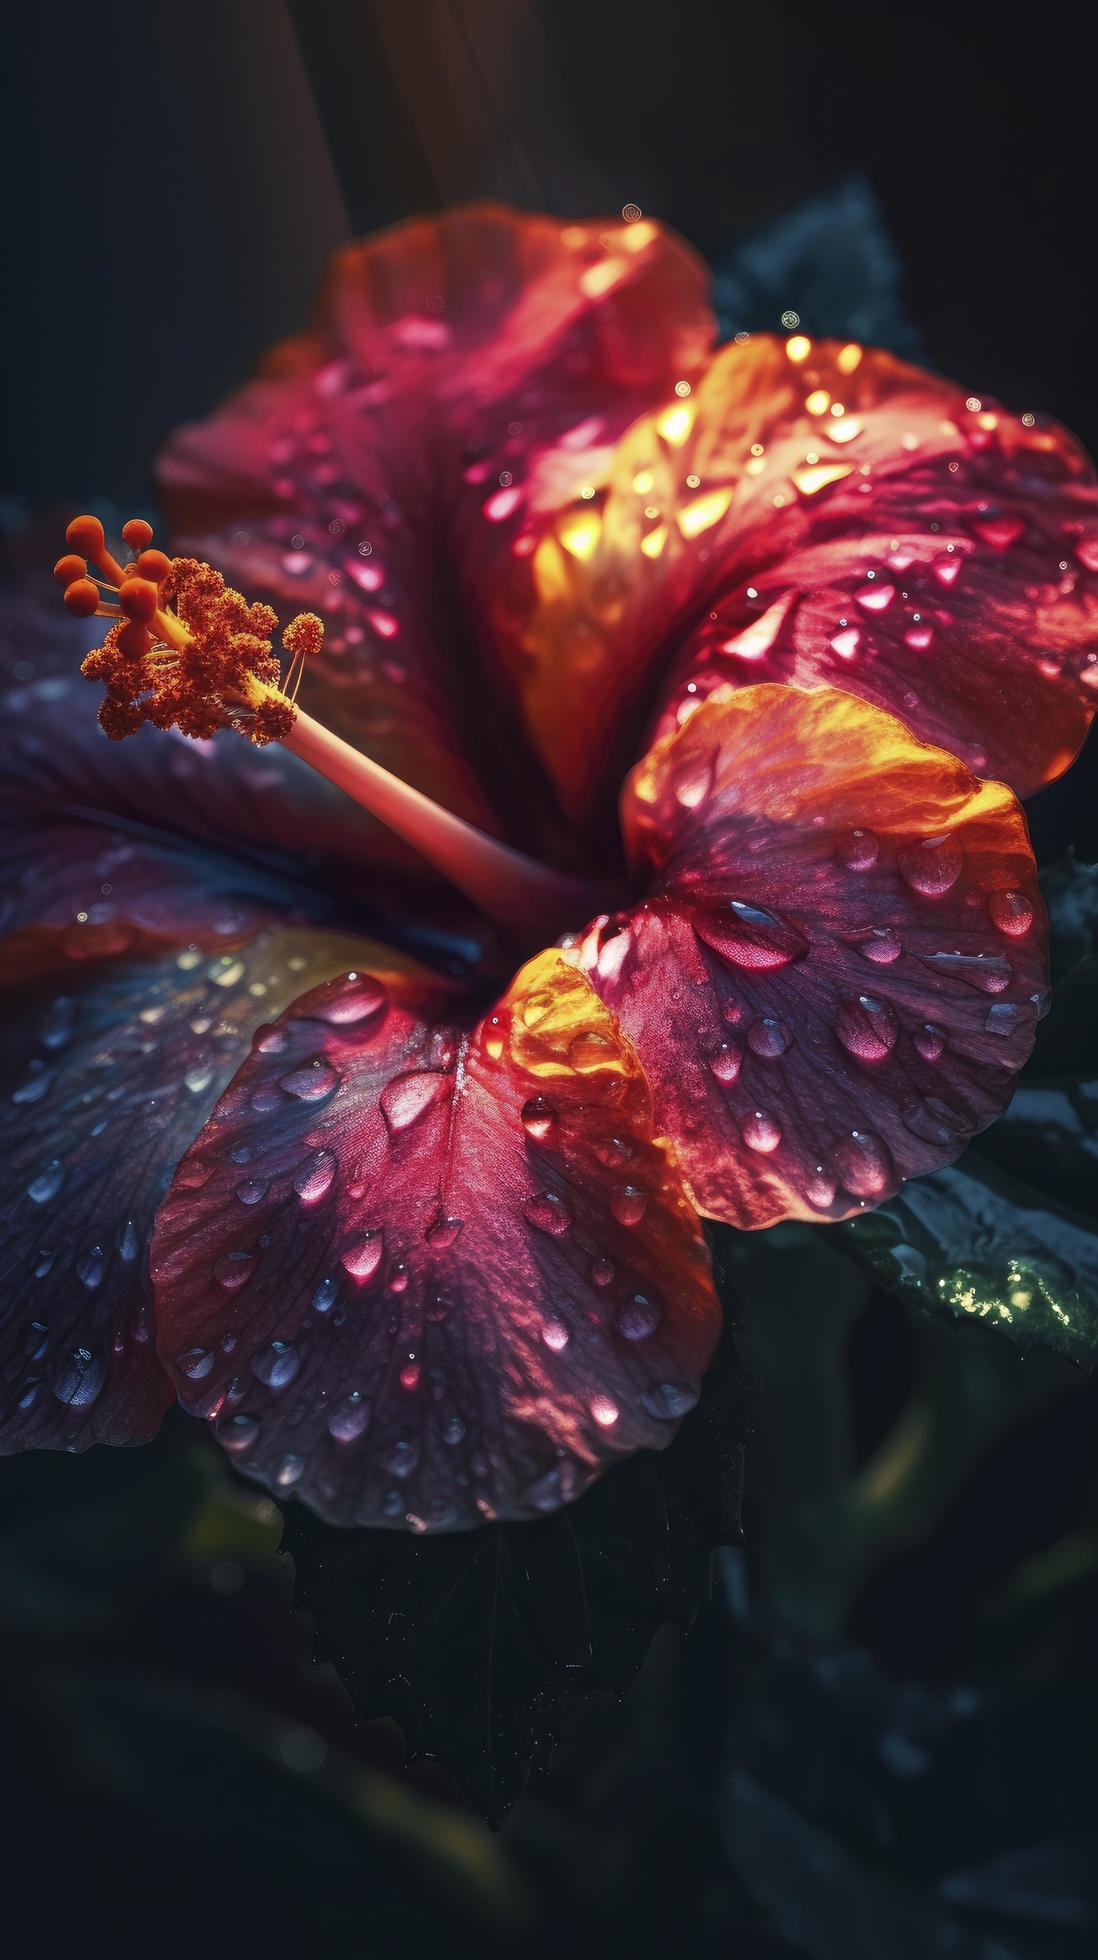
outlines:
[{"label": "orange pollen-covered anthers and round stigmas at the stamen's tip", "polygon": [[[324,639],[318,615],[298,613],[286,625],[282,676],[271,606],[249,604],[200,559],[151,551],[151,525],[139,517],[122,537],[137,553],[127,564],[106,549],[98,517],[75,517],[67,541],[76,549],[55,566],[71,612],[112,619],[102,647],[82,662],[86,678],[106,688],[104,733],[122,741],[149,721],[194,739],[233,727],[257,747],[288,735],[304,661]],[[102,578],[88,576],[86,559]]]}]

